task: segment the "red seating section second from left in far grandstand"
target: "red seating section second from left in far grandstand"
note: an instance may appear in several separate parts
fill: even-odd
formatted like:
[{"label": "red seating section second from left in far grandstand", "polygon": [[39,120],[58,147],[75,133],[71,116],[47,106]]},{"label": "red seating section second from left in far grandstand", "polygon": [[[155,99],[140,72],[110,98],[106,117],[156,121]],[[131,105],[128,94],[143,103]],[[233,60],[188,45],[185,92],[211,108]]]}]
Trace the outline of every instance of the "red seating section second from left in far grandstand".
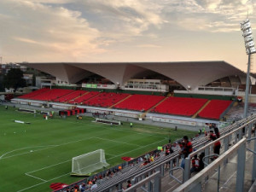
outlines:
[{"label": "red seating section second from left in far grandstand", "polygon": [[56,99],[59,99],[61,96],[65,96],[73,91],[74,90],[52,89],[37,96],[32,96],[30,99],[52,102]]}]

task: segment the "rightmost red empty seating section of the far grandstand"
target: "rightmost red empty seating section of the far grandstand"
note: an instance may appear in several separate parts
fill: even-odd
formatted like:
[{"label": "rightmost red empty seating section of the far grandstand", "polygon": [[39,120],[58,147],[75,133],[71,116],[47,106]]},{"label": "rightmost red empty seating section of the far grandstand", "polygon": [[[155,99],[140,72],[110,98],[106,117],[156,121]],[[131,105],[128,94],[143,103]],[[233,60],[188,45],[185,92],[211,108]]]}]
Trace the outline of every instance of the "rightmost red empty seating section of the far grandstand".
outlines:
[{"label": "rightmost red empty seating section of the far grandstand", "polygon": [[212,100],[198,115],[201,118],[219,119],[220,115],[230,106],[231,102],[232,101]]}]

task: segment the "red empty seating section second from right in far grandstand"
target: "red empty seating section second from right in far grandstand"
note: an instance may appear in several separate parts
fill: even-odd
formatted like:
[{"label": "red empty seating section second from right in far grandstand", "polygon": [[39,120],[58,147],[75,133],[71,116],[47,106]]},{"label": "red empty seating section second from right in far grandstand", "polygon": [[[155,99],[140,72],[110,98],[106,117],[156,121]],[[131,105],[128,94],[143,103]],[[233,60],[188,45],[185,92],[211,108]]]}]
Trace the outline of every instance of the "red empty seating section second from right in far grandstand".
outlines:
[{"label": "red empty seating section second from right in far grandstand", "polygon": [[192,116],[207,102],[207,99],[168,97],[166,101],[153,108],[153,113],[176,114],[183,116]]}]

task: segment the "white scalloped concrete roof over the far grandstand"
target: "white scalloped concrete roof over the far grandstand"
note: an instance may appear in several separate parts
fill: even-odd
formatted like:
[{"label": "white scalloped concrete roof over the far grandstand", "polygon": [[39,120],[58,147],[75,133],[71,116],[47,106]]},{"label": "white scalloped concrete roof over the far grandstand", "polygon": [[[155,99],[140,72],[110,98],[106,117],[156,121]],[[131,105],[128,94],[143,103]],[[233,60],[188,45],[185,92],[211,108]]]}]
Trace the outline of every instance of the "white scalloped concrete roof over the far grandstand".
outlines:
[{"label": "white scalloped concrete roof over the far grandstand", "polygon": [[229,76],[238,76],[241,84],[245,84],[246,73],[225,61],[178,61],[178,62],[23,62],[20,65],[32,67],[49,73],[69,84],[96,73],[109,79],[113,84],[125,84],[138,73],[148,70],[160,73],[167,78],[176,80],[184,88],[194,90],[214,80]]}]

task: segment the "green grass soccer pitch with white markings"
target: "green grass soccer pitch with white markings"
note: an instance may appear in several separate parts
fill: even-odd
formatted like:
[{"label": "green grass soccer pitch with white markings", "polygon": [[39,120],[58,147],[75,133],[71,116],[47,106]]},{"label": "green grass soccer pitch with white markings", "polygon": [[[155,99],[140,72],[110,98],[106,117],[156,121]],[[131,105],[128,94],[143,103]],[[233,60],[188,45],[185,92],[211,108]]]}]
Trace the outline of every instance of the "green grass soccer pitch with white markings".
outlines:
[{"label": "green grass soccer pitch with white markings", "polygon": [[[31,124],[15,123],[14,120]],[[43,119],[16,108],[0,106],[0,191],[52,191],[51,183],[74,183],[72,158],[96,149],[105,150],[111,165],[123,162],[122,156],[137,157],[157,146],[193,131],[173,131],[149,125],[102,125],[93,119],[76,117]]]}]

